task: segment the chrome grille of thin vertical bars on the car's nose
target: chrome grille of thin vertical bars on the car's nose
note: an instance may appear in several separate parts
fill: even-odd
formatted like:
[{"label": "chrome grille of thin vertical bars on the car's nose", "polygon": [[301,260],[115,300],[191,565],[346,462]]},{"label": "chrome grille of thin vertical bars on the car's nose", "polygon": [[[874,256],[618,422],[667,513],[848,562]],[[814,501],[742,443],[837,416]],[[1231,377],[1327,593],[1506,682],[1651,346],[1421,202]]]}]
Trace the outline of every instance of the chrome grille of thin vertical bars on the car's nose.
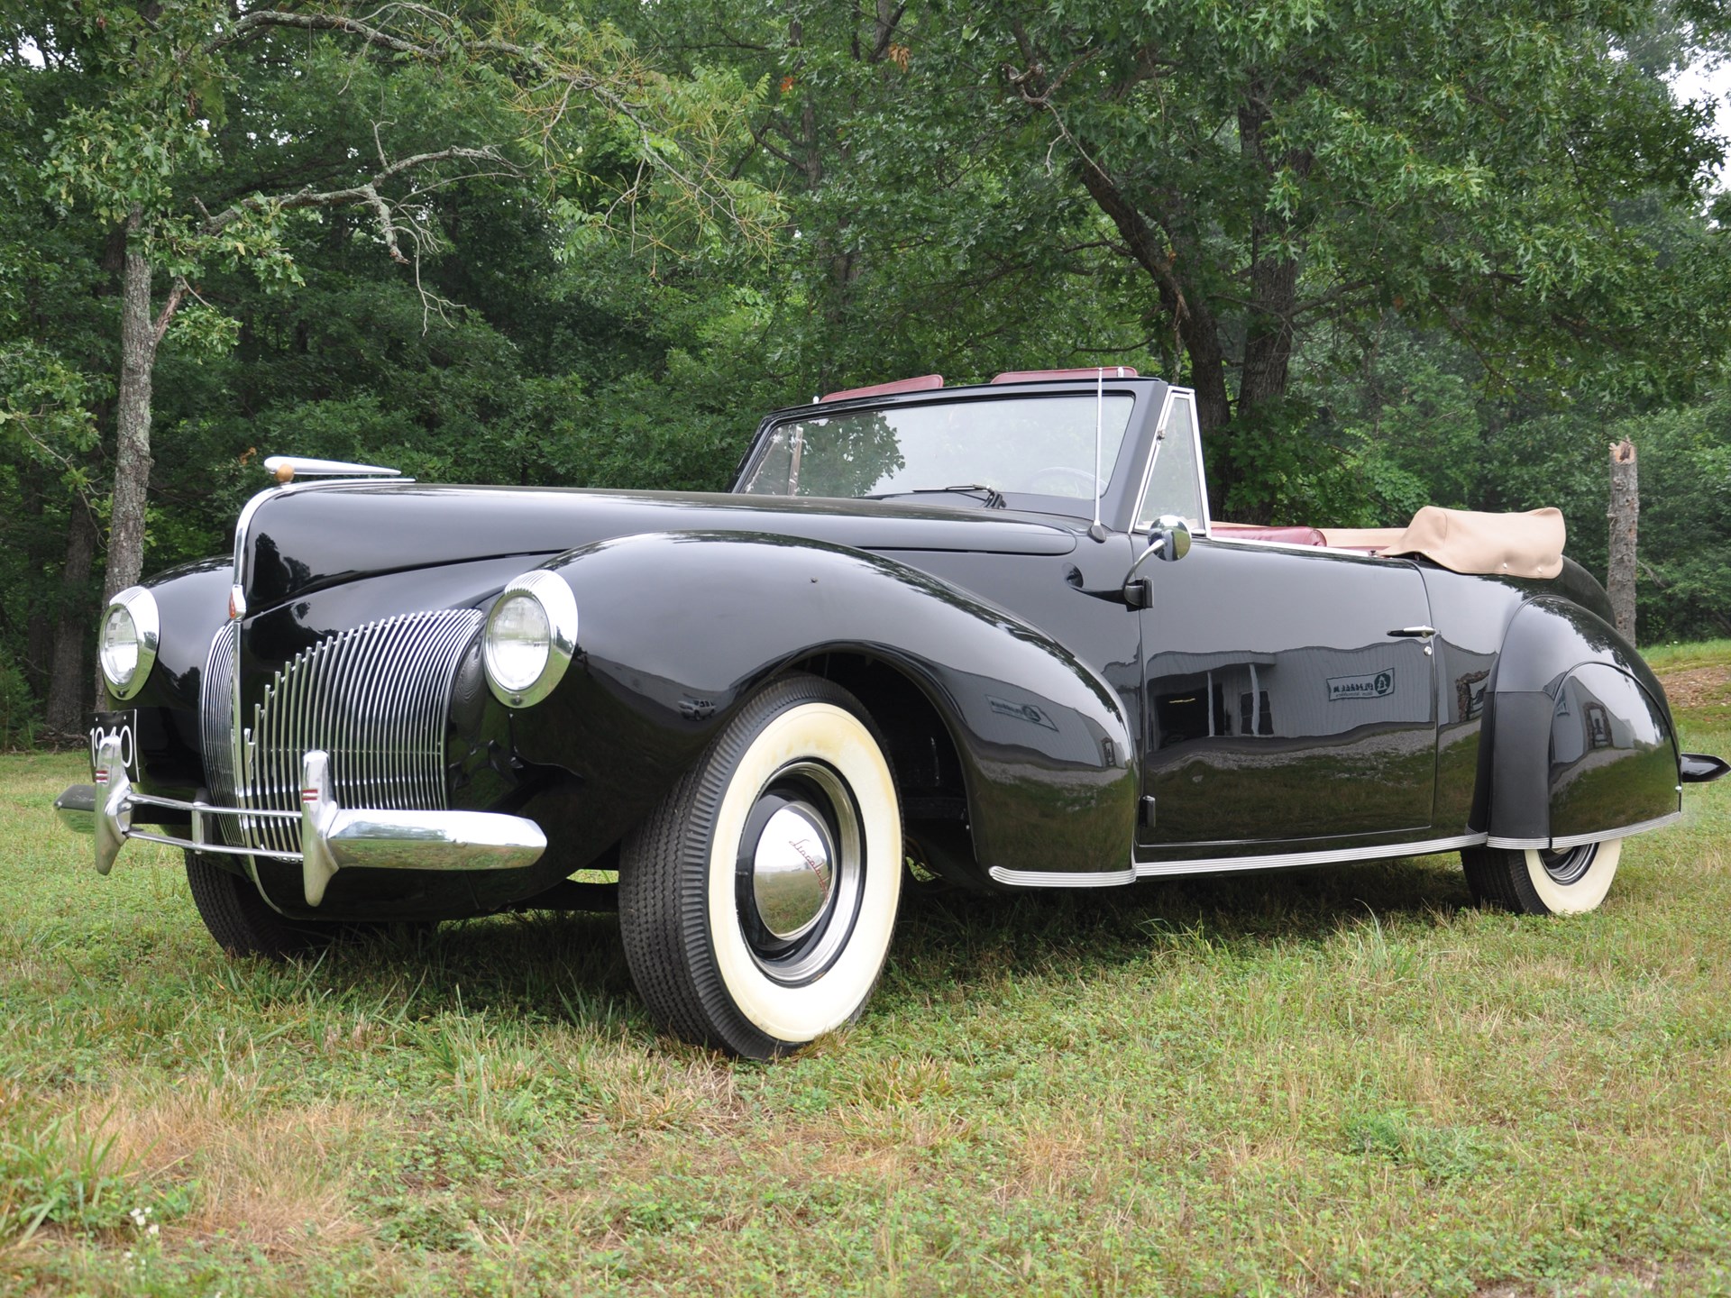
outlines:
[{"label": "chrome grille of thin vertical bars on the car's nose", "polygon": [[[232,734],[232,694],[215,665],[225,654],[234,673],[234,637],[211,646],[204,687],[204,744],[211,793],[230,806],[291,812],[301,805],[301,756],[331,755],[331,793],[344,806],[441,810],[445,798],[445,718],[464,649],[481,627],[474,609],[434,609],[372,621],[301,651],[279,670],[253,706],[239,787],[218,789]],[[227,630],[227,628],[225,628]],[[220,741],[211,732],[218,729]],[[299,850],[293,820],[239,817],[244,846]]]}]

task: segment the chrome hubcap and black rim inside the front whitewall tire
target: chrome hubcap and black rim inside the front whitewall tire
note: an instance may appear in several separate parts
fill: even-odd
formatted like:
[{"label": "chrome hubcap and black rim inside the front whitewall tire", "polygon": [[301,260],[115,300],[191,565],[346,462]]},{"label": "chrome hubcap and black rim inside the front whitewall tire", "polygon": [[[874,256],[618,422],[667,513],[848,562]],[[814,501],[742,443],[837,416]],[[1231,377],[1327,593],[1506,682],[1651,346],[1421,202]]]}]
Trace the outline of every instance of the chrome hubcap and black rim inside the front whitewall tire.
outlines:
[{"label": "chrome hubcap and black rim inside the front whitewall tire", "polygon": [[739,836],[736,905],[758,967],[796,986],[846,947],[866,883],[866,834],[841,775],[793,761],[758,791]]}]

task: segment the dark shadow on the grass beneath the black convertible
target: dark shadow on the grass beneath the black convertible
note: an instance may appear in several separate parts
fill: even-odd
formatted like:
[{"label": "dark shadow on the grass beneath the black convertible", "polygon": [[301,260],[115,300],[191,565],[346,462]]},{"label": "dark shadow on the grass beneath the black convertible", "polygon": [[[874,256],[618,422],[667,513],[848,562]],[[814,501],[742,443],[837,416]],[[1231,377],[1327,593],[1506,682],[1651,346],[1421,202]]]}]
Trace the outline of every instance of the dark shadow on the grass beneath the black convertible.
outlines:
[{"label": "dark shadow on the grass beneath the black convertible", "polygon": [[[1468,902],[1452,857],[1089,891],[980,896],[909,886],[886,981],[907,990],[988,974],[1085,978],[1198,938],[1255,957],[1326,941],[1373,914],[1388,924],[1449,916]],[[486,1012],[654,1035],[611,914],[500,916],[344,943],[320,957],[312,981],[414,1016]]]}]

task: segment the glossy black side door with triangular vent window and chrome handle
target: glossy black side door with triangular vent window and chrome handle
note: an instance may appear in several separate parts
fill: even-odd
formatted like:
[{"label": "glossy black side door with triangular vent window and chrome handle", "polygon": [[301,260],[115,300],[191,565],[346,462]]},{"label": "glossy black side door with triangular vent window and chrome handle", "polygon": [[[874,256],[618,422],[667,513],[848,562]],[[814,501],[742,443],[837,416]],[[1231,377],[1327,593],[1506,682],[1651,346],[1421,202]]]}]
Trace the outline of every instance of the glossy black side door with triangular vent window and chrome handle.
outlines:
[{"label": "glossy black side door with triangular vent window and chrome handle", "polygon": [[1139,519],[1194,543],[1146,564],[1139,855],[1260,855],[1421,838],[1437,774],[1430,604],[1416,564],[1208,537],[1194,415],[1174,393]]}]

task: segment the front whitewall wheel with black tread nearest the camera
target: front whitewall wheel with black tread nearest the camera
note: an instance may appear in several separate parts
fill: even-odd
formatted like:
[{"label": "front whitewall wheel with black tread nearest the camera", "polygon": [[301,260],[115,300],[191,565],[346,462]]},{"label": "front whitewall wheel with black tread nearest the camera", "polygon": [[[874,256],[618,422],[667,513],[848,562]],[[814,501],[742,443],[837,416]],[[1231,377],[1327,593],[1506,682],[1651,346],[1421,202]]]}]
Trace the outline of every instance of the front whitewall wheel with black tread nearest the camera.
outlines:
[{"label": "front whitewall wheel with black tread nearest the camera", "polygon": [[902,810],[859,701],[767,685],[625,839],[620,931],[654,1019],[753,1059],[866,1007],[902,893]]}]

